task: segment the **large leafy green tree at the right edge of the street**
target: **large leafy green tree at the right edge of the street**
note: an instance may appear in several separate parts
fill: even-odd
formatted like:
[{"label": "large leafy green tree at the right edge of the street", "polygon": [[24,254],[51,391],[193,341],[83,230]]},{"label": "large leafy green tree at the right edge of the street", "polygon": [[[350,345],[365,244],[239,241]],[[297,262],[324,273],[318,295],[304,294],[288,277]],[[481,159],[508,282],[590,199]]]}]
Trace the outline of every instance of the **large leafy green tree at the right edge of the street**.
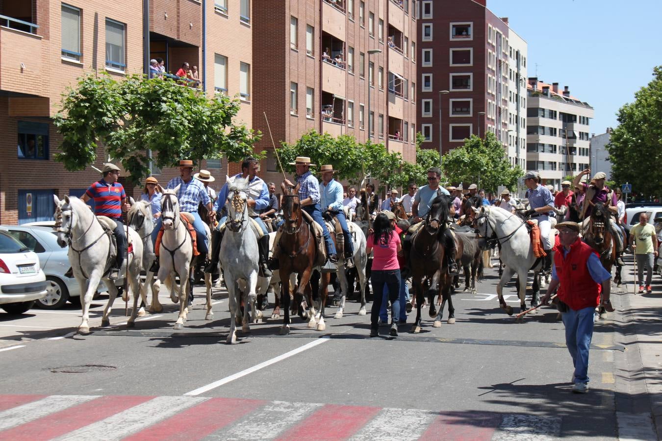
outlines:
[{"label": "large leafy green tree at the right edge of the street", "polygon": [[634,102],[618,110],[619,125],[606,146],[612,179],[630,182],[646,196],[662,195],[659,179],[662,161],[662,66],[653,68],[653,79],[634,95]]}]

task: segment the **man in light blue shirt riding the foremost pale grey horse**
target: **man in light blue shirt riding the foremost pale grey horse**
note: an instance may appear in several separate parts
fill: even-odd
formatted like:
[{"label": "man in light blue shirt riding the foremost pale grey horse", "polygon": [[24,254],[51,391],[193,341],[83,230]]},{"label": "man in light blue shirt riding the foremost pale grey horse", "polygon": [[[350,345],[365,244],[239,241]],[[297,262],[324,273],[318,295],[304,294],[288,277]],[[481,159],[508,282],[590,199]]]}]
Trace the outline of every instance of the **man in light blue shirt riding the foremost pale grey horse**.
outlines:
[{"label": "man in light blue shirt riding the foremost pale grey horse", "polygon": [[[267,268],[267,258],[269,257],[269,231],[267,230],[267,225],[265,225],[264,221],[260,218],[261,210],[264,210],[269,206],[269,188],[267,188],[267,184],[258,177],[258,167],[258,159],[247,157],[244,159],[244,162],[242,162],[242,173],[234,175],[234,179],[248,178],[248,188],[246,190],[248,196],[248,199],[246,200],[246,204],[248,204],[248,216],[260,225],[262,233],[264,233],[263,236],[258,239],[260,269],[262,270],[262,275],[264,277],[271,277],[271,270]],[[225,182],[225,185],[218,193],[216,204],[214,204],[214,212],[218,213],[220,219],[218,220],[218,226],[212,233],[211,262],[209,262],[209,265],[205,268],[205,272],[215,272],[218,267],[220,243],[223,239],[221,226],[224,225],[225,221],[228,219],[227,212],[221,214],[221,210],[223,210],[227,198],[228,182]],[[225,230],[223,229],[223,231]]]}]

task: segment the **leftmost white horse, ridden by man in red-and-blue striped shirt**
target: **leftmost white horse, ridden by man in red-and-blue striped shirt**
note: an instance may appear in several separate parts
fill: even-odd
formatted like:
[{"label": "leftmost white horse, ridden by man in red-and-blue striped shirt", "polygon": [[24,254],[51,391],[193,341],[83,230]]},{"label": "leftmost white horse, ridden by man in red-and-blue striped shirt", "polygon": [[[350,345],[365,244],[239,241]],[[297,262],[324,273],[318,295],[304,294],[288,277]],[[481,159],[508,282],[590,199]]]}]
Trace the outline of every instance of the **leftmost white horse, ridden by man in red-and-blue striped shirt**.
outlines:
[{"label": "leftmost white horse, ridden by man in red-and-blue striped shirt", "polygon": [[[81,307],[83,311],[83,320],[78,327],[81,334],[89,333],[89,305],[92,296],[97,291],[99,282],[103,280],[108,288],[110,295],[106,307],[103,309],[101,326],[108,326],[110,321],[108,313],[113,307],[113,301],[117,297],[117,287],[115,281],[108,278],[109,268],[111,268],[111,237],[101,226],[101,221],[107,222],[108,218],[101,221],[95,216],[89,206],[79,198],[73,196],[64,196],[60,200],[58,196],[53,196],[56,209],[54,218],[56,220],[56,231],[58,235],[58,245],[65,247],[69,245],[69,262],[78,284],[81,287]],[[126,229],[126,238],[132,244],[133,251],[128,254],[128,260],[124,259],[122,270],[127,278],[128,286],[134,293],[133,309],[131,317],[127,321],[127,326],[134,326],[137,315],[138,293],[140,293],[140,269],[142,268],[142,241],[134,229]],[[112,234],[112,233],[111,233]],[[126,274],[128,272],[128,275]]]}]

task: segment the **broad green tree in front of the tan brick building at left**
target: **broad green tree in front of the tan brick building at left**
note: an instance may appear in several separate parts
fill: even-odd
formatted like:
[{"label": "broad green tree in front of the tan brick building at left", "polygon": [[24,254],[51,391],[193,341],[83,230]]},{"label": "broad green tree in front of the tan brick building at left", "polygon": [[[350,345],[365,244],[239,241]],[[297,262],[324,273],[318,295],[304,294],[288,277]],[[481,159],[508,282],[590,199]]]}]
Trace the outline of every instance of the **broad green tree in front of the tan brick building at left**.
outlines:
[{"label": "broad green tree in front of the tan brick building at left", "polygon": [[254,154],[260,136],[232,124],[239,106],[237,99],[208,99],[169,79],[132,75],[117,81],[90,74],[66,91],[54,118],[63,138],[55,159],[70,171],[81,170],[97,160],[101,144],[135,184],[150,172],[148,151],[158,167],[222,155],[240,161]]}]

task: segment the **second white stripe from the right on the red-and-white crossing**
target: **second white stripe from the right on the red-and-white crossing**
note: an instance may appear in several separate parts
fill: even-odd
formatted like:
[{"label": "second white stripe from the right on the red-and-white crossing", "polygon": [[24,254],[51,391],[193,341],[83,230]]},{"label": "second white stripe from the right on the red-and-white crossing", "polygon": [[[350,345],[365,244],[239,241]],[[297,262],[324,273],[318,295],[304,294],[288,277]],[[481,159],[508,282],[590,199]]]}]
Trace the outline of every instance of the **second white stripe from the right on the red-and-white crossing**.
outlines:
[{"label": "second white stripe from the right on the red-and-white crossing", "polygon": [[418,409],[383,409],[350,440],[418,440],[437,413]]}]

